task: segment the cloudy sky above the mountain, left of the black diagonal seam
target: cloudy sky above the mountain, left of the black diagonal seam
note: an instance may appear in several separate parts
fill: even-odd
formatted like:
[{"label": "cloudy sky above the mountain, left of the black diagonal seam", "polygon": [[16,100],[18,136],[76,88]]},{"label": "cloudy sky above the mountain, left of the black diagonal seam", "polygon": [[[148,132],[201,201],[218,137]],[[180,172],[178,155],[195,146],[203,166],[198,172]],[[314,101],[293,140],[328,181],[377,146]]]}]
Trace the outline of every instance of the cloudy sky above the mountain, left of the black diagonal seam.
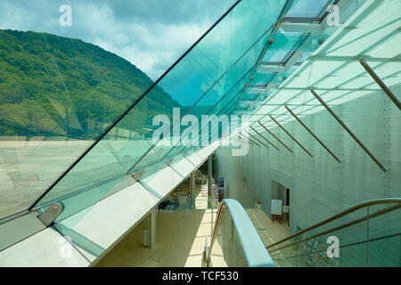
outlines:
[{"label": "cloudy sky above the mountain, left of the black diagonal seam", "polygon": [[[233,3],[233,0],[1,0],[0,28],[82,39],[117,53],[155,80]],[[71,26],[60,25],[62,4],[71,7]]]}]

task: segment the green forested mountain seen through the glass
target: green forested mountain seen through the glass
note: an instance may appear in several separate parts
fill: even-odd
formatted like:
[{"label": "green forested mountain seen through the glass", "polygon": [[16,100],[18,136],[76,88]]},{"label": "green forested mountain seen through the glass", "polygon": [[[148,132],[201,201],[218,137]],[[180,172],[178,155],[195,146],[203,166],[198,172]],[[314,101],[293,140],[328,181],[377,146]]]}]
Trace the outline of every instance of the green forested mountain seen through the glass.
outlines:
[{"label": "green forested mountain seen through the glass", "polygon": [[[95,138],[151,84],[140,69],[97,45],[0,30],[0,135]],[[138,107],[121,121],[119,135],[149,134],[144,128],[153,116],[180,106],[155,87]]]}]

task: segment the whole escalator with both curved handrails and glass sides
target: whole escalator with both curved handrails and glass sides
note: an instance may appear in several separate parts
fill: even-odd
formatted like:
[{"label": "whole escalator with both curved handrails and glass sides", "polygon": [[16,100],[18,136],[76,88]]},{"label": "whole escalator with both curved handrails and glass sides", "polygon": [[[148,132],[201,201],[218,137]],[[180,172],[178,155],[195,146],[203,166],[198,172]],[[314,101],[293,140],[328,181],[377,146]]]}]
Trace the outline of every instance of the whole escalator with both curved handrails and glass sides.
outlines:
[{"label": "whole escalator with both curved handrails and glass sides", "polygon": [[[228,210],[227,210],[228,209]],[[241,204],[219,203],[205,267],[401,266],[401,199],[373,199],[265,247]]]}]

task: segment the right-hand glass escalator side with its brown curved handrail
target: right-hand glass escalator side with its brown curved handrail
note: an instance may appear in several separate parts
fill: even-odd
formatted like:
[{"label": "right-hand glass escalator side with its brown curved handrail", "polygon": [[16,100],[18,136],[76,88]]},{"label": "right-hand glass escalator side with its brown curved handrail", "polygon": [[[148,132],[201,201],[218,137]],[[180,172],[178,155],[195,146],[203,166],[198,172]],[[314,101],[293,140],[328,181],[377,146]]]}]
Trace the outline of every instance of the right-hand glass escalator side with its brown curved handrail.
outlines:
[{"label": "right-hand glass escalator side with its brown curved handrail", "polygon": [[401,199],[358,203],[267,247],[278,266],[401,266]]}]

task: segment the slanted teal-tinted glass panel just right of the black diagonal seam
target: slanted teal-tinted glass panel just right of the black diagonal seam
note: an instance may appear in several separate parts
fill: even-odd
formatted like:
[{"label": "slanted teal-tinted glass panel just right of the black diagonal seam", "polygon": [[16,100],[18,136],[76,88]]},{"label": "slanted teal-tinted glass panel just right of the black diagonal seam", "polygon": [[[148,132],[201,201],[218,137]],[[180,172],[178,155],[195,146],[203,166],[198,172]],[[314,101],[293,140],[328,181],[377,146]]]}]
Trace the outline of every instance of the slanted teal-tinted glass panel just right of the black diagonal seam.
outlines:
[{"label": "slanted teal-tinted glass panel just right of the black diagonal seam", "polygon": [[[39,204],[46,207],[54,199],[64,203],[65,209],[58,218],[61,221],[63,217],[70,216],[70,211],[88,207],[110,191],[115,191],[107,185],[94,187],[94,183],[112,181],[110,183],[114,185],[121,176],[138,167],[146,168],[145,176],[165,167],[166,161],[162,158],[168,146],[158,144],[153,149],[155,126],[152,119],[156,115],[165,115],[174,126],[185,110],[190,110],[185,106],[199,108],[192,108],[192,114],[196,116],[204,113],[202,106],[214,106],[247,72],[249,68],[244,67],[255,63],[255,55],[258,56],[258,49],[266,41],[265,35],[273,27],[283,4],[284,1],[261,0],[238,4],[143,100],[136,103],[135,108],[113,128],[113,132],[97,143]],[[242,37],[235,37],[238,34]],[[248,53],[252,48],[253,53]],[[245,65],[237,64],[240,61]],[[177,118],[173,116],[175,107],[181,113]],[[114,132],[117,129],[121,130],[119,135]],[[136,166],[139,161],[141,164]],[[80,199],[79,193],[86,189],[91,189],[94,196]],[[72,200],[64,199],[72,194],[76,195],[74,201],[79,201],[80,206],[76,202],[72,206]]]}]

